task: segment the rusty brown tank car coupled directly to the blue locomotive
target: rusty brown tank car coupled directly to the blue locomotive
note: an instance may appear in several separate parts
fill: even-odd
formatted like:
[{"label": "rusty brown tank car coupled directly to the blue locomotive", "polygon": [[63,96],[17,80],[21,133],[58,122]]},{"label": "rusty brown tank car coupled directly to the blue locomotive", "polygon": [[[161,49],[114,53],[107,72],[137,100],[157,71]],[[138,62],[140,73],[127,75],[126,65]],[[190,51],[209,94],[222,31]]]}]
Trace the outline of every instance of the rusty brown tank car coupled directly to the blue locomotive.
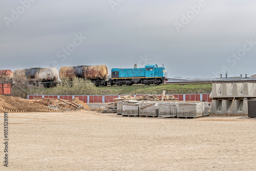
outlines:
[{"label": "rusty brown tank car coupled directly to the blue locomotive", "polygon": [[92,80],[96,86],[107,86],[106,79],[108,74],[109,71],[105,65],[61,67],[59,69],[59,78],[61,80],[72,80],[74,77],[86,78]]}]

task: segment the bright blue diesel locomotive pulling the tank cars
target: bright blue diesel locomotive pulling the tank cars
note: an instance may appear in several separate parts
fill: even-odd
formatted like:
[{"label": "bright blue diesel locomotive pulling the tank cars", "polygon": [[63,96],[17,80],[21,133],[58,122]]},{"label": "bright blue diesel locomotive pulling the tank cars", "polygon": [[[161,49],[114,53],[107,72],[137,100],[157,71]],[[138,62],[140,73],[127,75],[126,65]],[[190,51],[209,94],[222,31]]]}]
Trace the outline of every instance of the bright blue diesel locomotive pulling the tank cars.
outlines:
[{"label": "bright blue diesel locomotive pulling the tank cars", "polygon": [[168,79],[165,76],[164,67],[157,65],[146,65],[145,68],[113,68],[109,83],[112,85],[132,86],[132,84],[142,83],[145,85],[166,83]]}]

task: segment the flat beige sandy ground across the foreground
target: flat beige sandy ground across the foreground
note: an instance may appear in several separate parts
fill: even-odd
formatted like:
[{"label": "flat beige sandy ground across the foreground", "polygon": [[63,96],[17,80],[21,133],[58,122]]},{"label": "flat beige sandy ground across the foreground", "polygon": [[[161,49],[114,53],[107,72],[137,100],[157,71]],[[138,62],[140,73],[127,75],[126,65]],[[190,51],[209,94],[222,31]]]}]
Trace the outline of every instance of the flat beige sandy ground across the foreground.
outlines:
[{"label": "flat beige sandy ground across the foreground", "polygon": [[0,170],[256,170],[256,119],[9,113],[8,147]]}]

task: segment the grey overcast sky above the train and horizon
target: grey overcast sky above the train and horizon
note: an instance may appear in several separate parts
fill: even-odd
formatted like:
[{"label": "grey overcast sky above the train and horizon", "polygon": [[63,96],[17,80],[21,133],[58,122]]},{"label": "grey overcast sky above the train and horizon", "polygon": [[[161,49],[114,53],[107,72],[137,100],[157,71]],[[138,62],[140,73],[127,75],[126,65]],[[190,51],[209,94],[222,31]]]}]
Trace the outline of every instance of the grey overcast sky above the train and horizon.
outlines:
[{"label": "grey overcast sky above the train and horizon", "polygon": [[0,70],[148,63],[169,78],[250,76],[255,9],[253,0],[0,0]]}]

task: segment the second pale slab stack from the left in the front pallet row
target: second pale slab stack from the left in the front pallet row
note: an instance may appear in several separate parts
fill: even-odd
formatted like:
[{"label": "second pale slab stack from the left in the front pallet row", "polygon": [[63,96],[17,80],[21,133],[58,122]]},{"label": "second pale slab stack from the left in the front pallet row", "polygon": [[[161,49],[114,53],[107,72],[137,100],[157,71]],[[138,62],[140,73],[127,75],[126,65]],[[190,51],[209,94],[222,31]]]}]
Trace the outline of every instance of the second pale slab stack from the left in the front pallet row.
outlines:
[{"label": "second pale slab stack from the left in the front pallet row", "polygon": [[158,104],[155,101],[141,101],[139,103],[139,114],[140,116],[158,116]]}]

